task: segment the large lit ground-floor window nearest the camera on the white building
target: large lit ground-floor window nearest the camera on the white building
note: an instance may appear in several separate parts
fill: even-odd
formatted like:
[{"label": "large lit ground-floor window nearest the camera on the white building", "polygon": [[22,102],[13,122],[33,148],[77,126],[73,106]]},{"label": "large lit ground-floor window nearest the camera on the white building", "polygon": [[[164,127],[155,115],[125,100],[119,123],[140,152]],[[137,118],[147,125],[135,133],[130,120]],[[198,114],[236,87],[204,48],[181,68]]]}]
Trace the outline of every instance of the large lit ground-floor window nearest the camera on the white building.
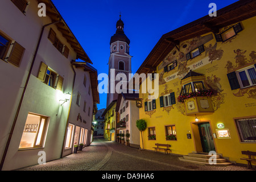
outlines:
[{"label": "large lit ground-floor window nearest the camera on the white building", "polygon": [[28,113],[19,148],[43,147],[46,137],[47,117]]}]

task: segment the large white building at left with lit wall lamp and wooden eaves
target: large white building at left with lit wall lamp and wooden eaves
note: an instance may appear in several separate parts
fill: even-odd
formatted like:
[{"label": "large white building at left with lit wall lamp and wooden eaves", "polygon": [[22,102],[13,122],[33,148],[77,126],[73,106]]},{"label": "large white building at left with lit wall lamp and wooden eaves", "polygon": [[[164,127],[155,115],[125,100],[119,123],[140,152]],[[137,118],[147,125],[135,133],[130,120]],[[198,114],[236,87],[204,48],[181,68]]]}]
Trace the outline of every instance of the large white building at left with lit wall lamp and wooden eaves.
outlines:
[{"label": "large white building at left with lit wall lamp and wooden eaves", "polygon": [[71,61],[92,63],[50,0],[46,17],[38,16],[38,1],[17,2],[0,6],[1,170],[38,164],[42,151],[46,161],[61,157],[75,77]]}]

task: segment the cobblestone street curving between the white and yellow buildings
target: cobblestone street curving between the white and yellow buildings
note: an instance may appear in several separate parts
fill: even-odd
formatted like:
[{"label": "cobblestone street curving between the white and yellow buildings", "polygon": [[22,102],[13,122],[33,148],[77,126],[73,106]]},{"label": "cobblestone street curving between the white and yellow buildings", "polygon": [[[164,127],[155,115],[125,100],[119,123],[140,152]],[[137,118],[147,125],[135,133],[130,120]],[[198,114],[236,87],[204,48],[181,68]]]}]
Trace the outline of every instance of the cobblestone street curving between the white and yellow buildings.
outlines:
[{"label": "cobblestone street curving between the white and yellow buildings", "polygon": [[252,171],[246,167],[213,167],[181,162],[179,156],[140,151],[137,148],[94,138],[77,154],[22,168],[19,171]]}]

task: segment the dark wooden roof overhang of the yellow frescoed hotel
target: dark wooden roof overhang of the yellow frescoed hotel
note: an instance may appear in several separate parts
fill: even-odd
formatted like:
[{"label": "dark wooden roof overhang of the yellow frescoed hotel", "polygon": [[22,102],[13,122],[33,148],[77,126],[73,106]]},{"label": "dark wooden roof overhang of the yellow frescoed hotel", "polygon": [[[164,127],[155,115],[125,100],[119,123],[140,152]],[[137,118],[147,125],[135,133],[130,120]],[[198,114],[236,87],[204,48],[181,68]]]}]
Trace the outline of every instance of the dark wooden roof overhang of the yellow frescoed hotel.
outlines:
[{"label": "dark wooden roof overhang of the yellow frescoed hotel", "polygon": [[[240,0],[217,11],[217,16],[203,16],[191,23],[164,34],[154,46],[136,73],[152,73],[164,57],[180,42],[196,36],[217,33],[220,28],[256,16],[255,0]],[[188,33],[189,32],[189,33]]]}]

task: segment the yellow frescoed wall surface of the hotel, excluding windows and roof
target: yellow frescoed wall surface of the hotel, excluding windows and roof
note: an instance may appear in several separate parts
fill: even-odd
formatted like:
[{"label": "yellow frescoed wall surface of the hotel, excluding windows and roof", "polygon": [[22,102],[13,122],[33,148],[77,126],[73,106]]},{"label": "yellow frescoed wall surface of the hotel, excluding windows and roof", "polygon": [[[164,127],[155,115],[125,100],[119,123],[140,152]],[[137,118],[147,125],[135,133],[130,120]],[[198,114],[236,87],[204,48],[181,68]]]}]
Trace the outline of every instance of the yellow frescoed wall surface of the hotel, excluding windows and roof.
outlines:
[{"label": "yellow frescoed wall surface of the hotel, excluding windows and roof", "polygon": [[[171,144],[174,154],[187,155],[191,151],[201,152],[201,140],[197,138],[199,129],[197,123],[203,122],[210,123],[214,134],[220,130],[218,128],[219,123],[223,123],[225,129],[229,130],[229,138],[224,139],[217,136],[214,138],[214,143],[216,152],[227,156],[230,160],[243,163],[240,160],[242,158],[241,151],[254,150],[255,143],[245,144],[241,142],[236,121],[237,118],[255,117],[256,86],[233,89],[228,74],[249,66],[253,67],[256,64],[255,21],[256,17],[240,22],[243,27],[242,31],[225,42],[217,42],[215,35],[209,32],[181,42],[177,46],[179,50],[175,47],[168,53],[156,68],[156,72],[159,73],[159,97],[166,96],[168,93],[175,93],[176,103],[161,107],[160,98],[157,98],[156,109],[150,112],[145,112],[144,107],[139,109],[139,117],[146,120],[148,127],[154,127],[156,133],[156,140],[145,140],[144,148],[146,150],[152,150],[155,143],[167,143]],[[235,24],[222,28],[220,33],[225,33],[224,31],[232,28]],[[204,45],[204,51],[187,60],[187,53],[201,45]],[[166,66],[174,62],[177,66],[166,70]],[[207,96],[208,103],[212,102],[210,112],[199,110],[189,113],[185,102],[179,102],[182,84],[187,84],[190,78],[181,79],[189,71],[203,75],[191,80],[203,81],[206,89],[214,90],[214,94],[209,96],[210,98]],[[148,94],[140,94],[143,101],[148,101],[147,96]],[[200,98],[195,99],[197,106],[201,104],[199,100]],[[195,117],[199,119],[199,122],[195,121]],[[175,141],[166,140],[166,126],[170,125],[175,126],[177,136]],[[148,130],[144,136],[147,133]],[[191,138],[187,138],[188,134],[191,134]],[[236,146],[236,150],[230,151],[230,148],[234,146]]]}]

